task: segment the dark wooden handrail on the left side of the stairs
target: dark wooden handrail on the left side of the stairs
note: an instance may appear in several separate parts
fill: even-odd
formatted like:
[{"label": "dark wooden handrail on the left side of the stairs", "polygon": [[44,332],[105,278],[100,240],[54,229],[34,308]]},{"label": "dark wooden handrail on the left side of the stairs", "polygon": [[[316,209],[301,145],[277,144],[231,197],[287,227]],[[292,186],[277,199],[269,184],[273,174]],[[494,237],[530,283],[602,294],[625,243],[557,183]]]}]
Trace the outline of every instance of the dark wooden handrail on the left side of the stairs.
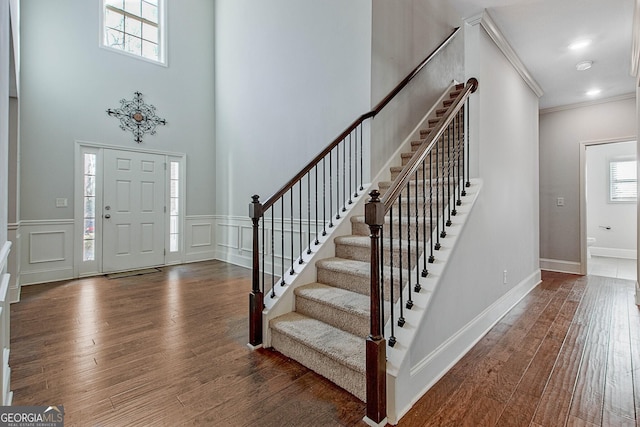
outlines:
[{"label": "dark wooden handrail on the left side of the stairs", "polygon": [[298,172],[293,178],[289,180],[280,190],[276,191],[271,197],[269,197],[263,204],[263,210],[267,210],[273,204],[284,196],[298,181],[300,181],[309,171],[311,171],[320,161],[326,157],[331,150],[333,150],[342,140],[344,140],[351,132],[353,132],[358,126],[360,126],[365,120],[375,117],[382,109],[391,102],[395,96],[404,89],[413,78],[442,50],[447,46],[451,40],[458,34],[460,27],[456,27],[451,34],[436,47],[433,52],[429,54],[416,68],[414,68],[398,85],[380,101],[373,110],[361,115],[356,121],[354,121],[348,128],[346,128],[336,139],[334,139],[324,150],[322,150],[316,157],[314,157],[300,172]]}]

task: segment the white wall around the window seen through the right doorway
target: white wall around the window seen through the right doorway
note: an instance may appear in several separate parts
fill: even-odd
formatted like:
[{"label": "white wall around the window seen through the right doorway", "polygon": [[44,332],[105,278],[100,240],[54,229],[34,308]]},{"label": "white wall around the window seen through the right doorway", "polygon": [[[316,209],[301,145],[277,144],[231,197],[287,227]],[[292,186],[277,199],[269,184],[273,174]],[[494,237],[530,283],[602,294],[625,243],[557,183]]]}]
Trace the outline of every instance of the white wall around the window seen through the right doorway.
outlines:
[{"label": "white wall around the window seen through the right doorway", "polygon": [[587,236],[596,239],[594,255],[635,258],[636,203],[609,202],[609,162],[635,158],[635,141],[587,147]]}]

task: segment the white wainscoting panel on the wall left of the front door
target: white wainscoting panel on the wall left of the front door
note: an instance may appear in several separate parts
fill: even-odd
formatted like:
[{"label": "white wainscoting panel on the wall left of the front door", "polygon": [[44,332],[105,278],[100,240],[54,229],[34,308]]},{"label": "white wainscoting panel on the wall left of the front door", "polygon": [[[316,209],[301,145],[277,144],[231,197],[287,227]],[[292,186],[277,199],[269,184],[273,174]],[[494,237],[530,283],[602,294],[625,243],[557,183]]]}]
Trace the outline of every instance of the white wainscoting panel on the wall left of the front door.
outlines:
[{"label": "white wainscoting panel on the wall left of the front door", "polygon": [[20,223],[20,284],[66,280],[73,271],[73,220]]}]

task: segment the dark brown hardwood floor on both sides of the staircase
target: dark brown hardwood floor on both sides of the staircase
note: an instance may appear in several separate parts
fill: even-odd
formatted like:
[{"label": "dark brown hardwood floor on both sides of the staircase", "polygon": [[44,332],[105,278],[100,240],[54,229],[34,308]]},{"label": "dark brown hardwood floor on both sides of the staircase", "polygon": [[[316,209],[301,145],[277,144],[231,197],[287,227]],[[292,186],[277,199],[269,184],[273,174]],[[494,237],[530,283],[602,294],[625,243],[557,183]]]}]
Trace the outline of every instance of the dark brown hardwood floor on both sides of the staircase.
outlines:
[{"label": "dark brown hardwood floor on both sides of the staircase", "polygon": [[[211,261],[22,288],[14,405],[67,426],[353,426],[364,404],[246,347],[249,270]],[[543,273],[400,426],[640,426],[633,282]]]}]

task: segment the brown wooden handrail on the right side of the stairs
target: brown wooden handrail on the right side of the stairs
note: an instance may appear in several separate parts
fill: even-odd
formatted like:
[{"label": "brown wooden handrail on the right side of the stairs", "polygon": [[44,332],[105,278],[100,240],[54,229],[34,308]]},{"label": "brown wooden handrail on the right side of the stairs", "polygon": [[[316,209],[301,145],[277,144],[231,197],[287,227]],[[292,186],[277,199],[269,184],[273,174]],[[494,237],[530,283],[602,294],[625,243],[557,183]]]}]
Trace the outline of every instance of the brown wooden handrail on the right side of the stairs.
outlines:
[{"label": "brown wooden handrail on the right side of the stairs", "polygon": [[384,206],[384,212],[389,212],[391,206],[398,198],[406,184],[411,179],[412,175],[418,169],[418,166],[422,164],[422,162],[426,159],[429,152],[432,150],[433,146],[436,144],[438,138],[442,136],[444,131],[449,126],[449,123],[453,120],[454,116],[458,113],[458,110],[464,105],[465,101],[469,97],[470,94],[474,93],[478,89],[478,80],[475,78],[470,78],[467,81],[465,88],[460,91],[454,103],[449,107],[447,114],[443,116],[436,127],[429,133],[425,141],[418,147],[418,150],[413,155],[409,163],[402,168],[400,174],[393,181],[389,190],[384,193],[384,196],[380,199],[380,202]]}]

